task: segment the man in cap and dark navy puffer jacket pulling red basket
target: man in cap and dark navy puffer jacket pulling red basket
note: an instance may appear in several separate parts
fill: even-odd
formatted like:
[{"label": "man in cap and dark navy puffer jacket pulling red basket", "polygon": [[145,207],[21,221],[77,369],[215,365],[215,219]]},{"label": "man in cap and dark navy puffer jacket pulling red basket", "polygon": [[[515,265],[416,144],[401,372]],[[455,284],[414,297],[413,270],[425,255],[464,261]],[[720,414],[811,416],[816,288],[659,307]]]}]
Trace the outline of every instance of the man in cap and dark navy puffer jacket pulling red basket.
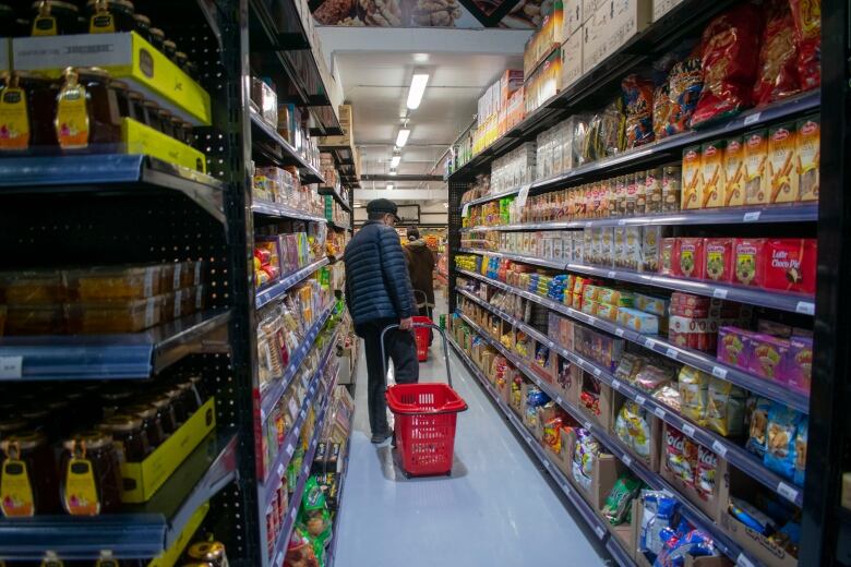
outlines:
[{"label": "man in cap and dark navy puffer jacket pulling red basket", "polygon": [[[355,333],[363,338],[369,375],[368,399],[372,443],[383,443],[393,434],[387,425],[380,337],[387,325],[399,328],[384,336],[384,352],[393,359],[396,382],[419,379],[417,345],[411,316],[417,313],[399,236],[393,229],[396,204],[376,198],[367,205],[369,219],[346,246],[346,305],[355,322]],[[386,364],[386,358],[384,363]]]}]

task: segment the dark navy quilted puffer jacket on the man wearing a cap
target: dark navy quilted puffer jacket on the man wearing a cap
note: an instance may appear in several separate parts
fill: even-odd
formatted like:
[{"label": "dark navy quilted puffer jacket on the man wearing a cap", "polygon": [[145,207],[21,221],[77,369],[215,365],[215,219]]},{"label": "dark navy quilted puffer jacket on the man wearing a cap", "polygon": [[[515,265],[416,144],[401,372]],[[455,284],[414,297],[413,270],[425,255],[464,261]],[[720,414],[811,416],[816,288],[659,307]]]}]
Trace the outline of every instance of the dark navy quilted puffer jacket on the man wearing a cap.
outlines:
[{"label": "dark navy quilted puffer jacket on the man wearing a cap", "polygon": [[346,246],[346,305],[355,325],[416,314],[399,236],[368,220]]}]

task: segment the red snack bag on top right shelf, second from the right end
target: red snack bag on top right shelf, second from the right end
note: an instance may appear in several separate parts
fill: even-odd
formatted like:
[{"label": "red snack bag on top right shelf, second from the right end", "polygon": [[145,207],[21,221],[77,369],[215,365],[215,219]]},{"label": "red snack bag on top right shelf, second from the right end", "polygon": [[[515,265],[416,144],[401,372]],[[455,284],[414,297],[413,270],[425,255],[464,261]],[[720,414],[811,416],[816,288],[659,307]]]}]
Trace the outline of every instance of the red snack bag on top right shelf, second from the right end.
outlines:
[{"label": "red snack bag on top right shelf, second from the right end", "polygon": [[770,0],[766,5],[759,75],[754,85],[754,104],[767,105],[801,91],[795,53],[795,28],[789,0]]}]

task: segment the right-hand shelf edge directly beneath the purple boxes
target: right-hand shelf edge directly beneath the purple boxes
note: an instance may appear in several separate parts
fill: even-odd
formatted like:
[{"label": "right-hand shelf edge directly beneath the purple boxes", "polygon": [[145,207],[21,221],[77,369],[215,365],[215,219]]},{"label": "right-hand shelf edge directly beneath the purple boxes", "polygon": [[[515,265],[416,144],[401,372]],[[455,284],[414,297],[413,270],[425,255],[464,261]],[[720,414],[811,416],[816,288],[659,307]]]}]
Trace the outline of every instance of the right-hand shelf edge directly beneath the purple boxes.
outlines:
[{"label": "right-hand shelf edge directly beneath the purple boxes", "polygon": [[803,413],[807,413],[810,411],[808,396],[793,391],[789,388],[786,388],[774,382],[769,382],[765,378],[754,376],[739,369],[734,369],[732,366],[722,364],[711,354],[678,347],[676,345],[669,342],[663,337],[642,335],[626,327],[611,323],[607,319],[588,315],[586,313],[568,307],[551,299],[543,298],[536,293],[531,293],[529,291],[525,291],[515,288],[513,286],[508,286],[506,284],[503,284],[502,281],[495,280],[493,278],[489,278],[487,276],[482,276],[475,272],[469,272],[466,269],[458,269],[457,272],[459,274],[465,274],[467,276],[484,281],[504,291],[508,291],[522,298],[534,301],[552,311],[556,311],[559,313],[567,315],[573,319],[579,321],[582,323],[596,327],[600,330],[615,335],[620,338],[623,338],[625,340],[645,347],[648,350],[652,350],[658,354],[682,362],[687,366],[692,366],[694,369],[700,370],[718,378],[726,379],[727,382],[730,382],[732,384],[735,384],[736,386],[753,391],[754,394],[758,394],[759,396],[784,403]]}]

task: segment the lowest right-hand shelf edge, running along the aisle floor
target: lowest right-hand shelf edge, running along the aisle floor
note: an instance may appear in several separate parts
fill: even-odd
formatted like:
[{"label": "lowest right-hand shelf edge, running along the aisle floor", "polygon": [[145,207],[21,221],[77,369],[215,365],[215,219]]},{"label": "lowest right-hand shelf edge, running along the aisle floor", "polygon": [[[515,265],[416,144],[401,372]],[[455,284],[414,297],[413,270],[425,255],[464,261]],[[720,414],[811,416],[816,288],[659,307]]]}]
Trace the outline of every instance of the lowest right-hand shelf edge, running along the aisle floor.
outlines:
[{"label": "lowest right-hand shelf edge, running along the aisle floor", "polygon": [[[571,482],[567,480],[567,476],[555,466],[555,463],[550,460],[550,458],[547,456],[547,453],[544,451],[541,444],[532,437],[531,433],[528,429],[520,421],[520,418],[517,417],[517,414],[505,405],[505,402],[500,398],[500,396],[493,390],[493,386],[488,381],[488,378],[481,373],[479,367],[470,360],[470,358],[467,355],[466,352],[458,346],[457,342],[455,342],[455,339],[452,337],[447,337],[447,340],[450,341],[450,345],[455,349],[456,354],[458,358],[462,359],[464,364],[467,366],[467,370],[476,376],[476,378],[479,381],[479,384],[481,387],[490,395],[491,401],[502,410],[503,414],[505,414],[505,418],[507,419],[508,423],[511,423],[516,433],[523,438],[523,441],[526,443],[526,445],[531,449],[532,454],[538,458],[539,462],[543,466],[544,470],[552,476],[552,479],[555,481],[555,484],[561,488],[564,496],[567,498],[567,500],[576,508],[576,510],[579,512],[579,516],[585,520],[585,522],[588,524],[588,527],[594,531],[594,533],[597,535],[597,538],[600,539],[601,542],[607,542],[608,539],[611,538],[609,530],[606,528],[606,522],[603,519],[598,516],[594,509],[591,508],[590,504],[588,504],[585,498],[582,497],[582,495],[577,492],[577,490],[571,484]],[[620,547],[620,544],[615,542],[615,545]],[[625,557],[625,553],[620,554],[621,557]],[[634,565],[632,562],[628,563],[620,563],[619,565],[625,567]]]}]

